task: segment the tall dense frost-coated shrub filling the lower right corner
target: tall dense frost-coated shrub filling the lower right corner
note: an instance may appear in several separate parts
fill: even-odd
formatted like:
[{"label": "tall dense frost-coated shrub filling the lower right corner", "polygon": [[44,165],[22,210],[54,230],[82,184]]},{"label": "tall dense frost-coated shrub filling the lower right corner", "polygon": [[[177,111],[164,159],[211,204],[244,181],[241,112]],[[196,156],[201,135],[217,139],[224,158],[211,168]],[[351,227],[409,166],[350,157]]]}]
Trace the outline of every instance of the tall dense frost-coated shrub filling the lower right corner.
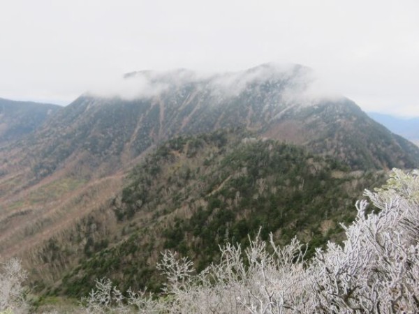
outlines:
[{"label": "tall dense frost-coated shrub filling the lower right corner", "polygon": [[366,191],[343,246],[318,250],[306,272],[316,313],[419,313],[418,172],[393,170],[387,186]]}]

